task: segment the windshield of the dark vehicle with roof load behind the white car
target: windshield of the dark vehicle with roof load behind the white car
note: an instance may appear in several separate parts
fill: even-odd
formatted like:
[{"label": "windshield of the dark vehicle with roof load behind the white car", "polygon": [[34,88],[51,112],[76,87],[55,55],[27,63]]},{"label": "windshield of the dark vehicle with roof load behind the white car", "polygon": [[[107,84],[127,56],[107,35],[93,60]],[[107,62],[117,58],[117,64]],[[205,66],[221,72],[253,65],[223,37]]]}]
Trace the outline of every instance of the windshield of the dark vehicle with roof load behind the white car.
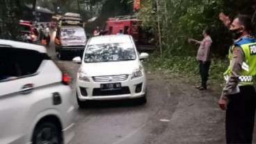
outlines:
[{"label": "windshield of the dark vehicle with roof load behind the white car", "polygon": [[82,28],[61,29],[61,39],[75,39],[86,37],[86,33]]}]

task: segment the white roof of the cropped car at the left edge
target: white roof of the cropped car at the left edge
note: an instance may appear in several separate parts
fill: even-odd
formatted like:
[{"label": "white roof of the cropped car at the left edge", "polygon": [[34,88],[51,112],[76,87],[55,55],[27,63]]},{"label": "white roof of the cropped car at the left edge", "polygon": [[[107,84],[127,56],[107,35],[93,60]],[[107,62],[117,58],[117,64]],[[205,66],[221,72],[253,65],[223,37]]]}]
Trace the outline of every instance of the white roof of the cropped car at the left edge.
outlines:
[{"label": "white roof of the cropped car at the left edge", "polygon": [[38,51],[40,53],[47,53],[46,48],[44,46],[39,46],[36,44],[28,44],[25,42],[15,42],[11,40],[0,39],[0,48],[1,46],[10,46],[13,48],[23,48],[23,49]]}]

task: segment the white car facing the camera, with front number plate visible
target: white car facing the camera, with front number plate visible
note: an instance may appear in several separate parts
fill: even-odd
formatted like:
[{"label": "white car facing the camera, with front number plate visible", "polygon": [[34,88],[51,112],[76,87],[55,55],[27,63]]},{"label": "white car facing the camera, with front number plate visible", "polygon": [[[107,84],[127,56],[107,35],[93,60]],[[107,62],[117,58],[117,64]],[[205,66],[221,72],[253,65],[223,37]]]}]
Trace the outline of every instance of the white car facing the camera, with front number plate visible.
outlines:
[{"label": "white car facing the camera, with front number plate visible", "polygon": [[138,98],[146,102],[146,75],[130,35],[106,35],[88,40],[77,73],[77,101],[80,107],[87,100],[119,100]]}]

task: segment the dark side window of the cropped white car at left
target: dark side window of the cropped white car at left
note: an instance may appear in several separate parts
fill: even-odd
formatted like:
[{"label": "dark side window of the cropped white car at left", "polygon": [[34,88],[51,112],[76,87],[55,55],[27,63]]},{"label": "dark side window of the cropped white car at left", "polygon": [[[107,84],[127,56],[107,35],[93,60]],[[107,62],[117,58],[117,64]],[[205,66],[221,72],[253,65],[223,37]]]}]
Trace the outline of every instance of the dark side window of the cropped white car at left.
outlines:
[{"label": "dark side window of the cropped white car at left", "polygon": [[43,60],[49,60],[45,53],[0,46],[0,82],[36,73]]}]

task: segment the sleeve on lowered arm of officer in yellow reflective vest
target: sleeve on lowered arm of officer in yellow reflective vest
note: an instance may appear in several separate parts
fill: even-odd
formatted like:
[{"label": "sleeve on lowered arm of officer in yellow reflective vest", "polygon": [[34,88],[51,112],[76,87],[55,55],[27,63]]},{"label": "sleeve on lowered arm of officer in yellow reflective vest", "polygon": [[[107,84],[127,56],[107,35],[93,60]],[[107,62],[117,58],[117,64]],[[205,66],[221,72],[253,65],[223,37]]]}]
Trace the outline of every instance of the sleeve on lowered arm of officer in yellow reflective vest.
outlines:
[{"label": "sleeve on lowered arm of officer in yellow reflective vest", "polygon": [[231,74],[229,80],[225,83],[225,87],[223,88],[222,96],[226,98],[229,96],[232,91],[237,87],[239,82],[239,76],[242,71],[242,64],[244,62],[245,55],[243,54],[242,49],[237,46],[234,48],[232,52],[232,62],[231,62]]}]

